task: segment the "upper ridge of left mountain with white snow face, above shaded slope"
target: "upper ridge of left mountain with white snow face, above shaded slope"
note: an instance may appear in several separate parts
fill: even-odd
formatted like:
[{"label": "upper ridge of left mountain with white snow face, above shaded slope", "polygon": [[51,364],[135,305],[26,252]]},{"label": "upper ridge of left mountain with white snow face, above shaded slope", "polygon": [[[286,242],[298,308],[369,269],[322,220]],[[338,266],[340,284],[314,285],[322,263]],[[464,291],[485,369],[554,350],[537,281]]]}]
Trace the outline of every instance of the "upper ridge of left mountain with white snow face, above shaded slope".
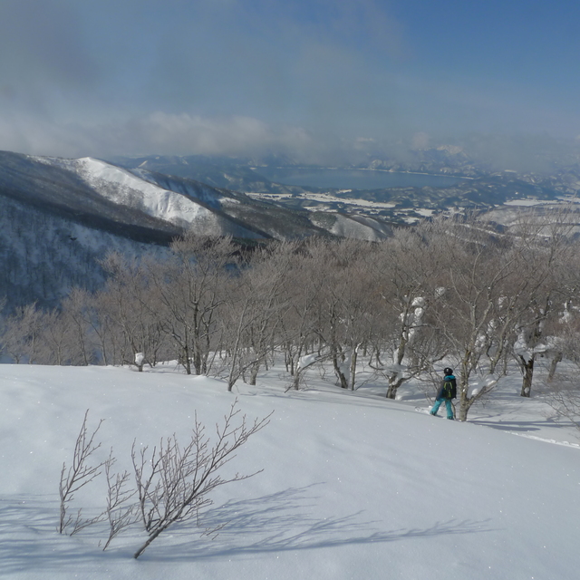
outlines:
[{"label": "upper ridge of left mountain with white snow face, above shaded slope", "polygon": [[[172,235],[194,228],[200,234],[291,239],[329,234],[334,225],[333,220],[321,222],[303,208],[285,208],[195,179],[142,167],[121,168],[92,158],[63,160],[0,153],[0,192],[50,205],[61,213],[72,208],[95,218],[104,213],[117,224],[146,226]],[[355,218],[346,229],[364,239],[389,234],[380,218],[365,222]]]}]

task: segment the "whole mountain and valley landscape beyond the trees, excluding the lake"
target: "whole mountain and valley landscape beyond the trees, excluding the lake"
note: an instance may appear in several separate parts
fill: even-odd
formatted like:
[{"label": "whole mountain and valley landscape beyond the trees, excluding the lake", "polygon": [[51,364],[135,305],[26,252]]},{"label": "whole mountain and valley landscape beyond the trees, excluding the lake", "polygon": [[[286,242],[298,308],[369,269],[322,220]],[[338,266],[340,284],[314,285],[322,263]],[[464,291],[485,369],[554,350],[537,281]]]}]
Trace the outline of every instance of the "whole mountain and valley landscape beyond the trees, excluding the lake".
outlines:
[{"label": "whole mountain and valley landscape beyond the trees, excluding the lake", "polygon": [[[270,161],[292,167],[291,160]],[[494,173],[474,169],[471,158],[453,147],[421,152],[412,160],[420,166],[388,168],[410,171],[412,165],[464,178],[437,188],[285,186],[260,175],[266,160],[151,156],[117,162],[0,151],[0,298],[6,295],[12,307],[34,300],[58,304],[73,285],[102,285],[99,260],[108,251],[136,259],[163,253],[189,228],[254,241],[315,235],[380,240],[397,224],[464,209],[508,226],[518,208],[547,210],[577,200],[580,192],[574,160],[551,174]],[[387,166],[374,160],[367,169]],[[580,223],[580,217],[571,219]]]}]

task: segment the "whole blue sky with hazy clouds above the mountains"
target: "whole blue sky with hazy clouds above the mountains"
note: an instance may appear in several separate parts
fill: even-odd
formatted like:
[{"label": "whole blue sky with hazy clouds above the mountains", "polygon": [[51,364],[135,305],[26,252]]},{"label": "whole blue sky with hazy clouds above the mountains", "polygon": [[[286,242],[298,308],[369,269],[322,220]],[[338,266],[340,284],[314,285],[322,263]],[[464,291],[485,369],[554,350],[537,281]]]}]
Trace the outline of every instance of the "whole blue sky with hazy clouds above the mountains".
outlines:
[{"label": "whole blue sky with hazy clouds above the mountains", "polygon": [[2,0],[0,149],[361,151],[580,135],[568,0]]}]

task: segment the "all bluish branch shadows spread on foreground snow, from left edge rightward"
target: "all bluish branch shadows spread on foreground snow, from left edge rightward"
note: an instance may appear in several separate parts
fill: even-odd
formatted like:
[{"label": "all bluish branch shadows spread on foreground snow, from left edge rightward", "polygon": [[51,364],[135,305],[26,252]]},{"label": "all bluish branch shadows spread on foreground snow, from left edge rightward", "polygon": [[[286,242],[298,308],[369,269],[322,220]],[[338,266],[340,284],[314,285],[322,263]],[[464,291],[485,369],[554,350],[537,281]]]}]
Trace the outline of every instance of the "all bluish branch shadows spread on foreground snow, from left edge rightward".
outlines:
[{"label": "all bluish branch shadows spread on foreground snow, from left edge rightward", "polygon": [[[425,528],[382,529],[382,522],[363,518],[363,512],[320,517],[314,484],[288,488],[260,498],[230,500],[209,509],[194,522],[171,527],[140,557],[154,561],[194,561],[225,556],[323,549],[333,546],[394,542],[430,536],[477,534],[493,531],[489,520],[436,522]],[[56,531],[59,502],[52,497],[0,497],[0,576],[42,571],[46,577],[82,569],[107,570],[131,560],[144,534],[133,528],[102,552],[106,539],[102,526],[89,527],[77,536]],[[204,527],[222,527],[215,540],[199,537]]]}]

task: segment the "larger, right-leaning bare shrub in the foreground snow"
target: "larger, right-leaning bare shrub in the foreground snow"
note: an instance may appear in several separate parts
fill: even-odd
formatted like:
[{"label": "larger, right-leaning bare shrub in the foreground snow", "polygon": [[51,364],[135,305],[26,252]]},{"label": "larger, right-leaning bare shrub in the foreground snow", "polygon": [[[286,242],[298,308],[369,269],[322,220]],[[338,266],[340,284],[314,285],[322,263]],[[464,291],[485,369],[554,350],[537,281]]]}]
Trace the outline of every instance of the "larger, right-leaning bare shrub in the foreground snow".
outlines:
[{"label": "larger, right-leaning bare shrub in the foreground snow", "polygon": [[236,451],[258,430],[266,427],[269,416],[248,424],[239,422],[237,401],[216,425],[213,444],[197,415],[191,440],[181,447],[175,435],[161,440],[150,455],[138,453],[133,444],[132,458],[139,498],[140,520],[148,533],[147,540],[135,552],[138,558],[168,527],[198,517],[199,510],[212,503],[208,494],[219,486],[256,475],[222,477],[220,471],[236,456]]}]

